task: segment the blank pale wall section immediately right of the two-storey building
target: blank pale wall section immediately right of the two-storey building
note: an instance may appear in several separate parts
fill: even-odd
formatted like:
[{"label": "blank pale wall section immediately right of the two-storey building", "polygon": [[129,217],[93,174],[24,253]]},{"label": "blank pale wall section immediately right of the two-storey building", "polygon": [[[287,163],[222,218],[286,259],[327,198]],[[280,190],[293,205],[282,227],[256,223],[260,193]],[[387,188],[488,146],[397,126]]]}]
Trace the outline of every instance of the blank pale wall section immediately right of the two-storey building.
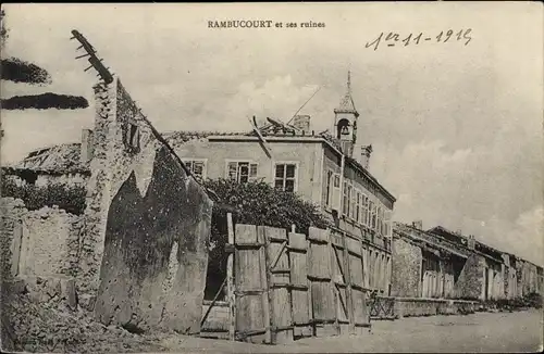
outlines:
[{"label": "blank pale wall section immediately right of the two-storey building", "polygon": [[421,249],[406,240],[394,238],[392,260],[392,296],[419,298],[421,289]]}]

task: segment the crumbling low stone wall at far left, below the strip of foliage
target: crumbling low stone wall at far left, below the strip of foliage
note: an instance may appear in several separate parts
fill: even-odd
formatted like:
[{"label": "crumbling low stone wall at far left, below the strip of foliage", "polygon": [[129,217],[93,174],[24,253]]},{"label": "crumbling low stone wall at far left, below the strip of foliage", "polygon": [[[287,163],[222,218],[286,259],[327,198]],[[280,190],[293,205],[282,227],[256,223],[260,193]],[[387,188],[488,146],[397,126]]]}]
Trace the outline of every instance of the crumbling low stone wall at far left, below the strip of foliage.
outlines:
[{"label": "crumbling low stone wall at far left, below the strip of foliage", "polygon": [[58,207],[29,212],[22,200],[0,199],[2,349],[16,341],[11,308],[21,293],[33,303],[77,306],[77,271],[81,218]]}]

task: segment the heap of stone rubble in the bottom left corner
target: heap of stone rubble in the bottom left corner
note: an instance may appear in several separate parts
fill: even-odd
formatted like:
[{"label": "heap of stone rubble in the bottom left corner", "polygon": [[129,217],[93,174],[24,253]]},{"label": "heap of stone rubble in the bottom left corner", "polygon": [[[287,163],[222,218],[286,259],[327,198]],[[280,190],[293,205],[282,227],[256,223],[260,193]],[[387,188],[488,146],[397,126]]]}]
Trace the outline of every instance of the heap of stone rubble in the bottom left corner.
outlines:
[{"label": "heap of stone rubble in the bottom left corner", "polygon": [[35,278],[13,285],[4,309],[11,317],[13,349],[48,353],[162,352],[156,334],[138,336],[103,326],[77,306],[71,281]]}]

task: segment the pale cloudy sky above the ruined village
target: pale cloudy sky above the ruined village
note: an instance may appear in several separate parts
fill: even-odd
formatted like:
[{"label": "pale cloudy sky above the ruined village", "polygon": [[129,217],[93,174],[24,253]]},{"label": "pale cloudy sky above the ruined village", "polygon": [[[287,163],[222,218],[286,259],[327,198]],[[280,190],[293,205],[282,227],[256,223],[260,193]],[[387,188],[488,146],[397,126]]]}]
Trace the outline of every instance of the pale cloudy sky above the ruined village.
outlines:
[{"label": "pale cloudy sky above the ruined village", "polygon": [[[74,59],[82,52],[69,40],[72,29],[87,37],[161,131],[246,130],[252,115],[285,122],[318,89],[300,113],[321,131],[333,124],[350,69],[358,141],[372,144],[370,172],[397,198],[394,219],[461,230],[544,264],[537,2],[3,8],[2,56],[40,65],[52,85],[2,81],[1,97],[55,92],[90,104],[1,112],[3,163],[76,142],[92,127],[97,77],[84,72],[86,60]],[[228,20],[272,21],[273,28],[208,27]],[[310,21],[324,27],[286,28]],[[457,40],[469,28],[470,42]],[[449,29],[454,36],[443,42]],[[399,35],[394,47],[384,41],[390,31]],[[379,48],[367,48],[381,33]]]}]

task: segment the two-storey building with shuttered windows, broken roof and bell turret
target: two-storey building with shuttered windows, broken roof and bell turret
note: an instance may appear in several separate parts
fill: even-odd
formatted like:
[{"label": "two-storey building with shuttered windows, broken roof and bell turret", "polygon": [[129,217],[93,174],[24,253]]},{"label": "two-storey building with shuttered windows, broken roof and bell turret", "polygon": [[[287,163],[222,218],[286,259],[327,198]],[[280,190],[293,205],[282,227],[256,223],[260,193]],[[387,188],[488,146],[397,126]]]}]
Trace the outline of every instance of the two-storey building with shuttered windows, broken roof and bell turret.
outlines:
[{"label": "two-storey building with shuttered windows, broken roof and bell turret", "polygon": [[252,132],[175,131],[165,138],[199,178],[261,180],[319,205],[333,232],[364,241],[366,286],[388,293],[396,200],[369,173],[372,148],[357,141],[359,113],[349,79],[333,113],[333,135],[316,135],[310,116],[298,115],[293,125],[270,119]]}]

